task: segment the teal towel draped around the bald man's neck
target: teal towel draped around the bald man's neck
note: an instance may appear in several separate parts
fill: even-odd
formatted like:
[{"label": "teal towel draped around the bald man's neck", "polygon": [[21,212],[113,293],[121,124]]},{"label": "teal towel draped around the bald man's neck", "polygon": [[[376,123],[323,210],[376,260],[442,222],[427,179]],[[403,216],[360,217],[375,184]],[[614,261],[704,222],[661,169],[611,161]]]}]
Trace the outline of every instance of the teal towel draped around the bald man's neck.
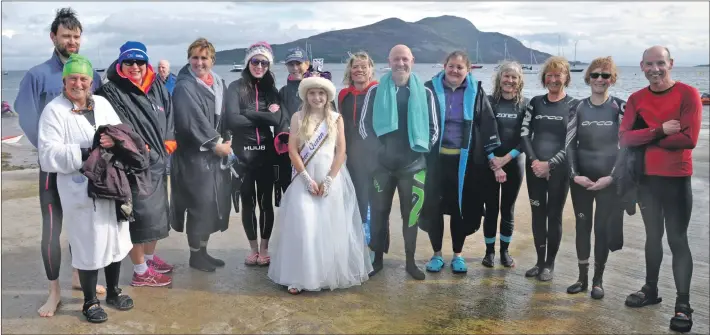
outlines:
[{"label": "teal towel draped around the bald man's neck", "polygon": [[[399,128],[397,93],[392,72],[387,72],[377,87],[372,111],[372,127],[377,137]],[[416,74],[409,77],[409,110],[407,111],[409,146],[415,152],[429,152],[429,109],[426,90]]]}]

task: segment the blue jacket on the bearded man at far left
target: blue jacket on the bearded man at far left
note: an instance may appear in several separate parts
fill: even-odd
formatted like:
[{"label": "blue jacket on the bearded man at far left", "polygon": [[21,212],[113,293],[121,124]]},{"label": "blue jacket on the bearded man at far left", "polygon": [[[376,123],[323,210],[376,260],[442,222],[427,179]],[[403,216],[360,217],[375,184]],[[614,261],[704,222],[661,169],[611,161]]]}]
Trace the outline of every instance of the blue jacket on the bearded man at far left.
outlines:
[{"label": "blue jacket on the bearded man at far left", "polygon": [[[20,128],[35,148],[37,148],[39,116],[44,106],[61,95],[64,89],[63,70],[64,63],[55,51],[50,59],[27,71],[20,82],[20,90],[15,98],[15,112],[20,119]],[[95,92],[99,87],[101,87],[101,76],[94,71],[91,91]]]}]

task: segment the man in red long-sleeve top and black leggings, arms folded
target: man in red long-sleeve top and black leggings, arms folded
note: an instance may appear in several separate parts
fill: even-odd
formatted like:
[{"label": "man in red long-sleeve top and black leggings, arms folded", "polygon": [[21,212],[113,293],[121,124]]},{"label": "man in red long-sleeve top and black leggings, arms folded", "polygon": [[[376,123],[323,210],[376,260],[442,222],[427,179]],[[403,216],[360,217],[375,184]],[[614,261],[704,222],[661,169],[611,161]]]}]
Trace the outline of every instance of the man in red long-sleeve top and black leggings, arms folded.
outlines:
[{"label": "man in red long-sleeve top and black leggings, arms folded", "polygon": [[[687,332],[693,326],[688,296],[693,274],[688,247],[688,224],[693,207],[690,176],[693,174],[692,150],[700,133],[702,103],[697,89],[671,79],[673,59],[667,48],[654,46],[644,51],[641,69],[650,85],[629,97],[619,138],[621,146],[645,149],[638,201],[646,227],[646,285],[629,295],[626,305],[643,307],[661,302],[657,284],[665,225],[678,291],[670,328]],[[647,127],[638,129],[639,123]]]}]

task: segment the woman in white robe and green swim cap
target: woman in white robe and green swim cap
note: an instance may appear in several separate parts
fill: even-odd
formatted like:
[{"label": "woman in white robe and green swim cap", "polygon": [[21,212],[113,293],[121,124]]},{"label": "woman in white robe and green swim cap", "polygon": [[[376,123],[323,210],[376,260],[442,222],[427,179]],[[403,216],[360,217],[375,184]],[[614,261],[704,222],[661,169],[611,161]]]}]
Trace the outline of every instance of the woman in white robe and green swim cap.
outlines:
[{"label": "woman in white robe and green swim cap", "polygon": [[[121,123],[106,99],[91,95],[92,77],[89,60],[72,54],[64,65],[62,94],[40,116],[38,151],[42,169],[57,173],[72,266],[79,270],[84,291],[82,312],[89,322],[100,323],[108,316],[96,298],[99,269],[106,274],[106,303],[119,310],[133,308],[133,300],[118,288],[121,260],[133,245],[128,222],[117,220],[115,202],[90,198],[88,179],[79,171],[89,156],[96,129]],[[110,148],[114,142],[102,135],[100,145]]]}]

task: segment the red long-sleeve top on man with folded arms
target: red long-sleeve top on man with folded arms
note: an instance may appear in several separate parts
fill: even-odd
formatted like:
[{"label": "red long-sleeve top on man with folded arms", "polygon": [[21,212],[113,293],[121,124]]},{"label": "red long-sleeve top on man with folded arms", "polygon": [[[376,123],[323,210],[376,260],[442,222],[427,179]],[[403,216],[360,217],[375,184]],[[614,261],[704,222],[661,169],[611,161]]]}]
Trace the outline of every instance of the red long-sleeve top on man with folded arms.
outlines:
[{"label": "red long-sleeve top on man with folded arms", "polygon": [[[620,144],[626,147],[647,145],[646,175],[691,176],[692,149],[698,143],[702,113],[700,93],[692,86],[676,82],[663,92],[653,92],[646,87],[633,93],[626,102],[619,127]],[[639,116],[648,128],[631,130]],[[670,120],[680,121],[680,132],[665,135],[663,123]]]}]

